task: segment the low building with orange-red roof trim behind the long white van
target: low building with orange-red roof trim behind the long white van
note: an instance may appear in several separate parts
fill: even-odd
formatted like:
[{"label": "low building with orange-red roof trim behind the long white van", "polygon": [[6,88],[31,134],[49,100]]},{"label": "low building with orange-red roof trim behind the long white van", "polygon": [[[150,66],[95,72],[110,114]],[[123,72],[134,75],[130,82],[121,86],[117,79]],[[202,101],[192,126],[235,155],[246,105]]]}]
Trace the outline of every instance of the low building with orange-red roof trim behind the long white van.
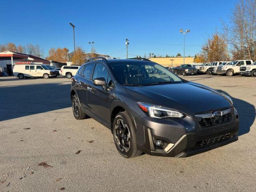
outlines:
[{"label": "low building with orange-red roof trim behind the long white van", "polygon": [[4,51],[0,52],[0,71],[6,72],[8,75],[12,75],[12,66],[16,62],[33,62],[36,64],[50,65],[50,61],[43,58],[39,58],[33,55]]}]

